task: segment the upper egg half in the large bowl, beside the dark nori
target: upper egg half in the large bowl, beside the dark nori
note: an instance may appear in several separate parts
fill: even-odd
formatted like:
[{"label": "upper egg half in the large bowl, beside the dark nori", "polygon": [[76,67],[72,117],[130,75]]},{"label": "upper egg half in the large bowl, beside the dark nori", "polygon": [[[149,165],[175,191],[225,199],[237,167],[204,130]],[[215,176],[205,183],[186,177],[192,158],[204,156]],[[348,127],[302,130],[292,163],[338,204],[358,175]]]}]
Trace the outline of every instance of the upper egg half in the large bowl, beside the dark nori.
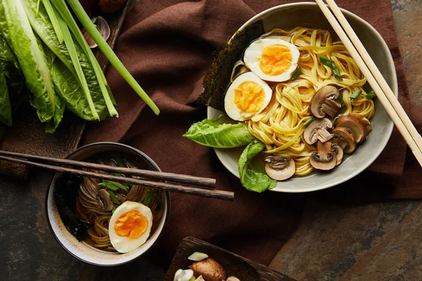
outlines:
[{"label": "upper egg half in the large bowl, beside the dark nori", "polygon": [[245,50],[245,65],[265,81],[282,82],[298,68],[299,50],[282,39],[264,38],[253,41]]}]

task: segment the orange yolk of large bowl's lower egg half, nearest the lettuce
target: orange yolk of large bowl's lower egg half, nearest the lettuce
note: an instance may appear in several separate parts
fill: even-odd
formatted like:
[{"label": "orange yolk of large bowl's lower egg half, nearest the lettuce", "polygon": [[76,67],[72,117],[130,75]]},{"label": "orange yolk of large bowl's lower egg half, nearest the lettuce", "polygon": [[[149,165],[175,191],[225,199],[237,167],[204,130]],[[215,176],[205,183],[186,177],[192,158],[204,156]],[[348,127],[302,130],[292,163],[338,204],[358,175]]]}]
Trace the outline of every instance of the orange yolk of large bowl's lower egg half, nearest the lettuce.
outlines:
[{"label": "orange yolk of large bowl's lower egg half, nearest the lettuce", "polygon": [[245,81],[234,89],[234,103],[242,112],[257,112],[264,102],[264,89],[254,81]]}]

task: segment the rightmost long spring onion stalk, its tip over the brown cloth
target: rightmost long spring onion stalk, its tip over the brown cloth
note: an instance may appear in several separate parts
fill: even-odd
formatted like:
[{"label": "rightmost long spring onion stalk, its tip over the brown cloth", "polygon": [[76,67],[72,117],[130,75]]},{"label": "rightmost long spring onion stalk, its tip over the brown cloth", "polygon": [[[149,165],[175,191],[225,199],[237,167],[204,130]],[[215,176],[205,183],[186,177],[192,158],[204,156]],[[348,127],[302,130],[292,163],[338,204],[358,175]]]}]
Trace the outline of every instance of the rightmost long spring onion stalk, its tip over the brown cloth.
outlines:
[{"label": "rightmost long spring onion stalk, its tip over the brown cloth", "polygon": [[[56,2],[56,1],[54,1]],[[58,2],[58,1],[57,1]],[[63,3],[63,0],[61,1]],[[84,8],[79,3],[79,0],[68,0],[68,4],[70,8],[72,8],[72,11],[75,13],[79,21],[82,23],[82,25],[85,27],[85,30],[89,33],[89,35],[94,39],[96,44],[98,45],[98,48],[106,55],[106,58],[110,61],[111,65],[115,67],[117,72],[122,75],[123,79],[127,81],[127,83],[132,86],[132,89],[136,91],[136,93],[145,101],[145,103],[151,107],[153,112],[156,115],[160,114],[160,110],[158,109],[157,105],[151,100],[151,98],[143,91],[141,86],[139,86],[138,82],[132,77],[132,74],[129,73],[129,71],[124,67],[122,62],[117,58],[117,55],[113,52],[113,50],[108,46],[106,40],[103,39],[100,32],[96,29],[95,25],[92,23],[91,19],[85,13]],[[60,4],[63,5],[63,4]]]}]

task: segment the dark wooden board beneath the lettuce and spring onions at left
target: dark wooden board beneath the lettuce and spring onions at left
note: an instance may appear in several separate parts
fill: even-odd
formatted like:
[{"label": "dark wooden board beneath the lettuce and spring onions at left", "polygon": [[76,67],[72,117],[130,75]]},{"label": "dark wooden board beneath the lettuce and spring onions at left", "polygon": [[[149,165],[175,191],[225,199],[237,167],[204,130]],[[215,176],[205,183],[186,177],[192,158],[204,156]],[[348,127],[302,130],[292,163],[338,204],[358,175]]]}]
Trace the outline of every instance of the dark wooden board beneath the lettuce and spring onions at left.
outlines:
[{"label": "dark wooden board beneath the lettuce and spring onions at left", "polygon": [[[119,11],[102,15],[110,25],[111,34],[107,42],[114,48],[117,37],[122,29],[124,18],[129,9],[130,0]],[[95,48],[94,54],[104,72],[108,67],[106,56]],[[6,130],[6,136],[0,143],[1,150],[25,152],[33,155],[64,158],[76,150],[82,138],[86,122],[79,119],[68,110],[56,133],[45,133],[45,124],[39,122],[34,108],[30,105],[21,106],[13,115],[13,126]],[[0,174],[26,179],[28,167],[20,164],[0,161]]]}]

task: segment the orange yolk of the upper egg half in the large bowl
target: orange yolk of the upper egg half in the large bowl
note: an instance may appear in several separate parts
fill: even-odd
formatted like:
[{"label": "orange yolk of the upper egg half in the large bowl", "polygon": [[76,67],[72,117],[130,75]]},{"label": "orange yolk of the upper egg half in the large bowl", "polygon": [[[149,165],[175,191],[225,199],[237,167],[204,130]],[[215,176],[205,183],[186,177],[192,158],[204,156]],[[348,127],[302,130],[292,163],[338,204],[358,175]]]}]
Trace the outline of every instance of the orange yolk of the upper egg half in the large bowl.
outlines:
[{"label": "orange yolk of the upper egg half in the large bowl", "polygon": [[274,44],[262,50],[260,69],[264,74],[274,76],[286,72],[292,65],[290,48],[281,44]]}]

